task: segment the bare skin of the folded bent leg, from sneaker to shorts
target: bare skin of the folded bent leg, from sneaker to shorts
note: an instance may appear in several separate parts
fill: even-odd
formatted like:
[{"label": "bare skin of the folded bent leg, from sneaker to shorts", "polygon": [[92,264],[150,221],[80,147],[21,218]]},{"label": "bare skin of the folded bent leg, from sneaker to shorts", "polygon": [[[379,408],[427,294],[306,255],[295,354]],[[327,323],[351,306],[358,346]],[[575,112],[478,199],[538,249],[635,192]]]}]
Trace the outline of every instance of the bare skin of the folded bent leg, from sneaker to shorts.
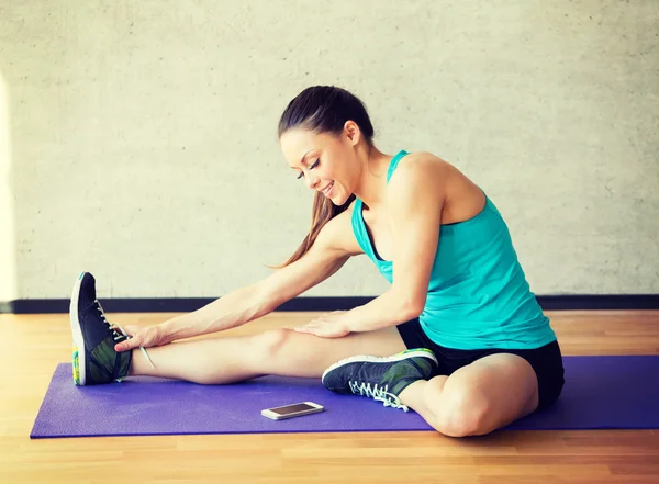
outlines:
[{"label": "bare skin of the folded bent leg, from sneaker to shorts", "polygon": [[496,353],[450,376],[416,381],[400,398],[444,435],[478,436],[533,413],[538,406],[538,383],[525,359]]}]

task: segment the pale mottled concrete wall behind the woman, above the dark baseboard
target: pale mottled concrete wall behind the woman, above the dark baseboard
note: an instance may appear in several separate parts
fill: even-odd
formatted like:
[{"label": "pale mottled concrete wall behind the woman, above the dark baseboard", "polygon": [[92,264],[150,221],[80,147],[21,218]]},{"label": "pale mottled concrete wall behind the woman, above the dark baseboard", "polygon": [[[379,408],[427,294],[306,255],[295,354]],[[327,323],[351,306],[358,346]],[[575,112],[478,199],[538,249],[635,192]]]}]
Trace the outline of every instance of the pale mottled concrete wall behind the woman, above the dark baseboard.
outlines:
[{"label": "pale mottled concrete wall behind the woman, above the dark baseboard", "polygon": [[[537,294],[657,293],[658,10],[5,0],[16,297],[67,297],[80,270],[104,297],[267,275],[311,218],[277,122],[317,83],[365,101],[381,149],[433,151],[479,183]],[[361,258],[308,294],[384,288]]]}]

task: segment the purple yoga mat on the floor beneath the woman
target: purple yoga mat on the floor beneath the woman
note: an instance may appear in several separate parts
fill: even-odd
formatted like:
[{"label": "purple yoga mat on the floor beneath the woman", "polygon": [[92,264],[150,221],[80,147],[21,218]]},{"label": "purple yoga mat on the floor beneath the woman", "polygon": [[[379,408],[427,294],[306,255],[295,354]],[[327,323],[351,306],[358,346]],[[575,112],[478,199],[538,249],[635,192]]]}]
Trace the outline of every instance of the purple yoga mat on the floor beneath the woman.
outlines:
[{"label": "purple yoga mat on the floor beneath the woman", "polygon": [[[509,427],[540,429],[658,429],[659,356],[563,357],[566,385],[549,409]],[[325,412],[270,420],[264,408],[311,401]],[[414,412],[370,398],[337,395],[315,379],[264,376],[231,385],[155,378],[75,386],[60,363],[31,438],[182,434],[268,434],[432,430]]]}]

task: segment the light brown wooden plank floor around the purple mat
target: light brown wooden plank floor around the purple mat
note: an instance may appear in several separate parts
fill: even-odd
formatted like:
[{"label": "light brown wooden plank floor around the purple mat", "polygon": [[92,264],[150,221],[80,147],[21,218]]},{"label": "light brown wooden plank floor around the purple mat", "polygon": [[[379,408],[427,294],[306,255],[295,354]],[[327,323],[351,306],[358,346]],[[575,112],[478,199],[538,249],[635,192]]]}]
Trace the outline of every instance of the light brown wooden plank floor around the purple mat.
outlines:
[{"label": "light brown wooden plank floor around the purple mat", "polygon": [[[170,314],[115,314],[156,324]],[[276,313],[233,330],[308,320]],[[659,312],[548,313],[565,354],[658,354]],[[0,315],[0,483],[659,483],[659,431],[170,436],[30,440],[67,315]],[[647,375],[659,384],[659,375]],[[75,412],[75,408],[71,408]],[[657,409],[659,412],[659,408]],[[423,481],[420,481],[423,480]]]}]

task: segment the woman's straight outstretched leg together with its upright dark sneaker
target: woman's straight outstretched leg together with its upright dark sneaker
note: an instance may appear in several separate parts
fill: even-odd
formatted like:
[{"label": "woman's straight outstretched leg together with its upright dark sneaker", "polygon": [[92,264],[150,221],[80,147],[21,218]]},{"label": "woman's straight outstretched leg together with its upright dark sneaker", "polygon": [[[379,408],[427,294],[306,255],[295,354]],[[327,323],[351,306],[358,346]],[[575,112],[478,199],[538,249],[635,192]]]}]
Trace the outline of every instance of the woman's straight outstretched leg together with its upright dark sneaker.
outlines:
[{"label": "woman's straight outstretched leg together with its upright dark sneaker", "polygon": [[116,352],[125,339],[105,319],[96,297],[96,281],[80,274],[70,306],[74,381],[108,383],[129,375],[154,375],[197,383],[230,383],[264,374],[321,376],[333,362],[353,354],[392,354],[405,349],[396,328],[319,338],[291,329],[261,335],[219,337],[148,348],[153,365],[139,350]]}]

